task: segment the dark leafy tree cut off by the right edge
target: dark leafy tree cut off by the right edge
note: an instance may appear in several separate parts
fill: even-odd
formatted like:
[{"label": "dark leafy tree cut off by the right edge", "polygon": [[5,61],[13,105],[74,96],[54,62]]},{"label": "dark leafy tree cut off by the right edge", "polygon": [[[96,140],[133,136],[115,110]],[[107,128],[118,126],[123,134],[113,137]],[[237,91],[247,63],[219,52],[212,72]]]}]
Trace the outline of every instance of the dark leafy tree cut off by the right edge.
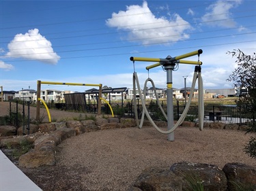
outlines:
[{"label": "dark leafy tree cut off by the right edge", "polygon": [[[246,55],[241,50],[233,50],[227,52],[232,57],[236,56],[236,63],[238,67],[229,75],[227,81],[233,82],[236,88],[240,88],[240,97],[237,105],[241,108],[241,111],[246,111],[252,116],[252,120],[249,123],[249,128],[246,133],[256,133],[256,54]],[[242,90],[243,93],[242,93]],[[246,146],[244,152],[256,158],[256,138],[251,137]]]}]

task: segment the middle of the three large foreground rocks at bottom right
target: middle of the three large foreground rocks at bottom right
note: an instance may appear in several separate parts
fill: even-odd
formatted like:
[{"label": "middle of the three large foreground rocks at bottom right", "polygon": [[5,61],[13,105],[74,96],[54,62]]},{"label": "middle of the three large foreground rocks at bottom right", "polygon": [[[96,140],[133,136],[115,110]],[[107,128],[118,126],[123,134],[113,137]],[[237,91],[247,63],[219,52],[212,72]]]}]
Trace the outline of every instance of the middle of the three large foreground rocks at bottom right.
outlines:
[{"label": "middle of the three large foreground rocks at bottom right", "polygon": [[212,164],[179,162],[171,166],[171,171],[188,182],[197,184],[201,181],[204,190],[225,191],[227,189],[225,173]]}]

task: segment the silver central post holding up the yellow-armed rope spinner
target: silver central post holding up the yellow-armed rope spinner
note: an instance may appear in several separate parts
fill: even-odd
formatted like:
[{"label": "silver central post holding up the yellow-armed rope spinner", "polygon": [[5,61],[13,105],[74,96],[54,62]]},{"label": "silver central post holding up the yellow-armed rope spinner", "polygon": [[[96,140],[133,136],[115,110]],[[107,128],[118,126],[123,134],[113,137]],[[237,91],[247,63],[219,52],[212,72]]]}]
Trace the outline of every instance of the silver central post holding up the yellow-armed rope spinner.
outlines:
[{"label": "silver central post holding up the yellow-armed rope spinner", "polygon": [[[165,66],[167,71],[167,130],[169,131],[174,126],[173,122],[173,81],[172,81],[172,70],[173,66],[168,65]],[[174,141],[174,132],[168,134],[168,141]]]}]

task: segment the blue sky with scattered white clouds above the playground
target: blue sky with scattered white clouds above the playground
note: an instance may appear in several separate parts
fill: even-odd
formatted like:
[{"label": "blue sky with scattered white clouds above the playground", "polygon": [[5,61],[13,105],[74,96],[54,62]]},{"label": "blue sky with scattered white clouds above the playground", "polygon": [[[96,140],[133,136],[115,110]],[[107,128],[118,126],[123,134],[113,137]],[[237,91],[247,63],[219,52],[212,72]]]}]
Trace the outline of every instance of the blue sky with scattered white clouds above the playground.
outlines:
[{"label": "blue sky with scattered white clouds above the playground", "polygon": [[[0,1],[3,90],[36,90],[37,80],[132,88],[134,68],[141,86],[149,75],[166,88],[162,67],[148,73],[145,67],[154,63],[133,67],[130,56],[166,58],[199,49],[204,88],[232,88],[226,79],[236,58],[227,52],[256,52],[256,1]],[[183,88],[186,75],[190,86],[193,71],[180,64],[173,87]]]}]

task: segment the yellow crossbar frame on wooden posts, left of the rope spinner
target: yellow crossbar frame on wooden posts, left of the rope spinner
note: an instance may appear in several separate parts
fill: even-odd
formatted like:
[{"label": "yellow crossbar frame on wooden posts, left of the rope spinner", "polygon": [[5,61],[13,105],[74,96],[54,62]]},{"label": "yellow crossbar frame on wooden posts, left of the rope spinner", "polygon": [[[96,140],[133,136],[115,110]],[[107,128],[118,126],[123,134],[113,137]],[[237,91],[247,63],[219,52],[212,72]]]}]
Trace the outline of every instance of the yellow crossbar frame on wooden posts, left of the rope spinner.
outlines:
[{"label": "yellow crossbar frame on wooden posts, left of the rope spinner", "polygon": [[[42,101],[41,98],[40,98],[40,95],[41,95],[41,84],[55,84],[55,85],[69,85],[69,86],[98,86],[99,87],[98,115],[100,115],[100,113],[101,113],[100,98],[102,97],[102,84],[79,84],[79,83],[65,83],[65,82],[41,82],[40,80],[38,80],[36,120],[40,120],[40,101]],[[46,107],[46,110],[48,110],[47,107]],[[47,113],[48,113],[48,117],[49,117],[49,122],[51,122],[50,113],[48,111],[47,111]]]}]

